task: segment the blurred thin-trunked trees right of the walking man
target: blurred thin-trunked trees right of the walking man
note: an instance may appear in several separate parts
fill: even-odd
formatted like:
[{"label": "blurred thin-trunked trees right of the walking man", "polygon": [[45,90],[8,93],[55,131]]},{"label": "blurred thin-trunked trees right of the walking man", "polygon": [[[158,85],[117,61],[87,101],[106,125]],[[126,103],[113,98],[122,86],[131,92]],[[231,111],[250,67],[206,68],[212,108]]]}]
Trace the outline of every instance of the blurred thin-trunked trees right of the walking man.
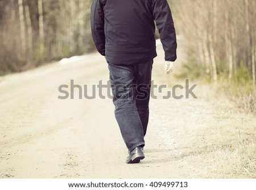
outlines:
[{"label": "blurred thin-trunked trees right of the walking man", "polygon": [[255,84],[256,1],[183,0],[176,4],[176,25],[193,56],[189,72],[214,81],[224,77]]}]

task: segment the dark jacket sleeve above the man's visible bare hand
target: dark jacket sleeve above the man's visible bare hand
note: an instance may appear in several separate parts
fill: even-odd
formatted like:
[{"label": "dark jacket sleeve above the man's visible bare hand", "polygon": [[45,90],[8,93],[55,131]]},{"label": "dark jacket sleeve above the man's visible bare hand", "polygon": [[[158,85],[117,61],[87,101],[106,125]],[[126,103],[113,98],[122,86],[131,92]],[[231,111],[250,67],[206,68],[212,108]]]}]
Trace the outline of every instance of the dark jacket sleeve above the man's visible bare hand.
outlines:
[{"label": "dark jacket sleeve above the man's visible bare hand", "polygon": [[175,61],[177,59],[176,32],[167,0],[152,0],[152,14],[160,34],[160,40],[163,44],[165,52],[164,59],[166,61]]}]

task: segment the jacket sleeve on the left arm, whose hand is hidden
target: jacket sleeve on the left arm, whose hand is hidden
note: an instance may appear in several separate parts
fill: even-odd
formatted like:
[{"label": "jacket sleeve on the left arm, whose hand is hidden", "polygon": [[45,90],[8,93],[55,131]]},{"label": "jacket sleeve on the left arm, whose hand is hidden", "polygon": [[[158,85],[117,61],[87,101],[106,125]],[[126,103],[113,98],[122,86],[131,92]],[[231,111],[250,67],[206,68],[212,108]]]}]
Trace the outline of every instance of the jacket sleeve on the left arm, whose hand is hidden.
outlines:
[{"label": "jacket sleeve on the left arm, whose hand is hidden", "polygon": [[104,10],[100,0],[93,0],[90,11],[92,37],[98,52],[105,56]]}]

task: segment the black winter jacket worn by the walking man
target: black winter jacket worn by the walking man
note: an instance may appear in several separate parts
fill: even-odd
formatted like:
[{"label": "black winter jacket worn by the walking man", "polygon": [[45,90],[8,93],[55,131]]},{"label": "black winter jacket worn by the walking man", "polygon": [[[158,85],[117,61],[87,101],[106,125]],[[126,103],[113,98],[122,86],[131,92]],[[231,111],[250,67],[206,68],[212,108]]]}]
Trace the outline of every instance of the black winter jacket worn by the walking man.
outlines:
[{"label": "black winter jacket worn by the walking man", "polygon": [[91,27],[98,52],[114,64],[156,57],[155,23],[166,61],[176,60],[176,34],[167,0],[93,0]]}]

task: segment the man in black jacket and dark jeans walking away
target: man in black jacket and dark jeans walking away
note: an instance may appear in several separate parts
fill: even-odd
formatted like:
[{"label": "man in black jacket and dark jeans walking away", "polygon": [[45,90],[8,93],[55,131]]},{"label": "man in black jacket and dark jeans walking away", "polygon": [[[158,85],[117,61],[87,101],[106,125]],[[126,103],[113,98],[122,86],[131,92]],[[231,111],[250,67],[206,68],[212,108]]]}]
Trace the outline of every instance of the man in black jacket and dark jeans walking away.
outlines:
[{"label": "man in black jacket and dark jeans walking away", "polygon": [[176,60],[176,34],[167,0],[94,0],[92,36],[105,56],[117,119],[129,150],[126,163],[144,159],[144,136],[153,59],[156,57],[155,23],[165,52],[166,73]]}]

